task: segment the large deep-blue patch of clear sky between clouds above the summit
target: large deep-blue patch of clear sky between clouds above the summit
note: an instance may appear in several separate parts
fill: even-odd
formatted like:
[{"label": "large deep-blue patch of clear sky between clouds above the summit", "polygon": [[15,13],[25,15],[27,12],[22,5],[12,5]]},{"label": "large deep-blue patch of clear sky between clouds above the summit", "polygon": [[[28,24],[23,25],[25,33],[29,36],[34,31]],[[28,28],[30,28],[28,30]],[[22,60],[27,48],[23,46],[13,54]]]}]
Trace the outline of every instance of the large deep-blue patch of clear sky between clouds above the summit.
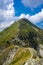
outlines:
[{"label": "large deep-blue patch of clear sky between clouds above the summit", "polygon": [[[15,8],[15,15],[16,16],[19,16],[21,13],[34,15],[34,14],[40,12],[41,9],[43,9],[43,3],[41,5],[39,5],[39,6],[36,6],[36,7],[32,7],[31,8],[29,6],[25,6],[22,3],[22,1],[23,0],[14,0],[14,3],[15,3],[14,4],[14,8]],[[29,2],[29,0],[26,0],[26,1]],[[39,1],[41,1],[41,0],[39,0]],[[24,3],[25,3],[25,0],[24,0]]]}]

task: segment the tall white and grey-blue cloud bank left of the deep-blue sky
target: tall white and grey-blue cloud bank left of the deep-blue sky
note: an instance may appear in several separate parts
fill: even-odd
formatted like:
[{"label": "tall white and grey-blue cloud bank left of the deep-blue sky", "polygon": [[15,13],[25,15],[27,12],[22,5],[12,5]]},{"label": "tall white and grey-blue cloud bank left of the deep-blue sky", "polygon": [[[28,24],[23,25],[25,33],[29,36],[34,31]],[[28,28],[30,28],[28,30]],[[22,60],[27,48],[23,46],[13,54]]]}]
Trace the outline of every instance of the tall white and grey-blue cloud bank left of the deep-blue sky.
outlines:
[{"label": "tall white and grey-blue cloud bank left of the deep-blue sky", "polygon": [[15,9],[13,5],[13,0],[0,0],[0,31],[14,22]]}]

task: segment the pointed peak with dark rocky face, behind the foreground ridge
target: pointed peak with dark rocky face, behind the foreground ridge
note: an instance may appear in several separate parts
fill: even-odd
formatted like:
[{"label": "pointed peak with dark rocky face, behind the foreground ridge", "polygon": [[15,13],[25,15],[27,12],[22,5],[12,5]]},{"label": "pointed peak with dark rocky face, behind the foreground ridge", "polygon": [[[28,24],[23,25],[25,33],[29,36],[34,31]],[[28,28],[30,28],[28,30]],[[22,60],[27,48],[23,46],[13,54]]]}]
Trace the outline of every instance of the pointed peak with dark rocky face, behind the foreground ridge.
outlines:
[{"label": "pointed peak with dark rocky face, behind the foreground ridge", "polygon": [[37,50],[38,45],[43,44],[42,34],[43,31],[30,21],[20,19],[0,32],[0,48],[14,44],[21,47],[32,47]]}]

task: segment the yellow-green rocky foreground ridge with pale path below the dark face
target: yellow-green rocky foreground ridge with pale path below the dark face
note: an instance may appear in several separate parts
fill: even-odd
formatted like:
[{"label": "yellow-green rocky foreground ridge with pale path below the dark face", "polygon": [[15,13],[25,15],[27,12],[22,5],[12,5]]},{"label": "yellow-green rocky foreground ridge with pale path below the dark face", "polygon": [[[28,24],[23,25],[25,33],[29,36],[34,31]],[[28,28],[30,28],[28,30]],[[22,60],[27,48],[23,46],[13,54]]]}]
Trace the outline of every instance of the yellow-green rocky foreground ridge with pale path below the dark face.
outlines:
[{"label": "yellow-green rocky foreground ridge with pale path below the dark face", "polygon": [[0,54],[0,65],[43,65],[43,58],[33,48],[9,46]]}]

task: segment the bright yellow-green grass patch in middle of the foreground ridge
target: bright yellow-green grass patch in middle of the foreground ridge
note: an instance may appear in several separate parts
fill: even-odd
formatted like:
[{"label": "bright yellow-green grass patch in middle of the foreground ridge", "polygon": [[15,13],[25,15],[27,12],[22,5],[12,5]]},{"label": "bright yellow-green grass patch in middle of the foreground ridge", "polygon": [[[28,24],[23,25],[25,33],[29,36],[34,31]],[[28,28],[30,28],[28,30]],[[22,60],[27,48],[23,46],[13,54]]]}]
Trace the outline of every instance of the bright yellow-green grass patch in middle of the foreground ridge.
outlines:
[{"label": "bright yellow-green grass patch in middle of the foreground ridge", "polygon": [[19,48],[19,51],[14,56],[13,61],[10,63],[10,65],[20,65],[23,62],[25,62],[27,59],[31,57],[31,53],[29,49],[26,48]]}]

